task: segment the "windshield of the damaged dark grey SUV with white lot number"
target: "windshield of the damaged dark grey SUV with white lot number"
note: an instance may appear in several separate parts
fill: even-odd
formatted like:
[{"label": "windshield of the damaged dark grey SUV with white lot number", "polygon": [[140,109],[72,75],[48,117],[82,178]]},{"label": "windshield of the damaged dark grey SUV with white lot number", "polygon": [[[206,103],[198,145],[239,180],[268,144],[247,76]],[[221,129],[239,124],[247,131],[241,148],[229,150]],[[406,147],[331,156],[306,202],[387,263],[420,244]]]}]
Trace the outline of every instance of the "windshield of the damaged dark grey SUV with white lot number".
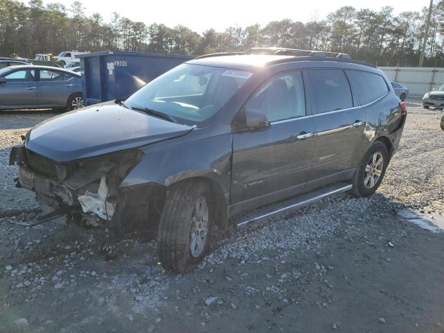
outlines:
[{"label": "windshield of the damaged dark grey SUV with white lot number", "polygon": [[139,89],[125,104],[198,123],[216,114],[250,76],[245,71],[183,64]]}]

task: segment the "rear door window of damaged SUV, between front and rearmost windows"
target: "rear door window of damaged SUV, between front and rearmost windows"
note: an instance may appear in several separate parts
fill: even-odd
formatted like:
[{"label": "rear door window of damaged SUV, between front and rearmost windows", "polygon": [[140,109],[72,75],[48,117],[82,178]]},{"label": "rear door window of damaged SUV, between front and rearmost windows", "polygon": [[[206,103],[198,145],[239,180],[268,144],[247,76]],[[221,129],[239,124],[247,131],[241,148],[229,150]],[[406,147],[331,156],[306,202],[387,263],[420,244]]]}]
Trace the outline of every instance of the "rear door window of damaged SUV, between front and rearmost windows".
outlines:
[{"label": "rear door window of damaged SUV, between front and rearmost windows", "polygon": [[308,76],[318,113],[352,108],[352,92],[341,69],[313,69]]}]

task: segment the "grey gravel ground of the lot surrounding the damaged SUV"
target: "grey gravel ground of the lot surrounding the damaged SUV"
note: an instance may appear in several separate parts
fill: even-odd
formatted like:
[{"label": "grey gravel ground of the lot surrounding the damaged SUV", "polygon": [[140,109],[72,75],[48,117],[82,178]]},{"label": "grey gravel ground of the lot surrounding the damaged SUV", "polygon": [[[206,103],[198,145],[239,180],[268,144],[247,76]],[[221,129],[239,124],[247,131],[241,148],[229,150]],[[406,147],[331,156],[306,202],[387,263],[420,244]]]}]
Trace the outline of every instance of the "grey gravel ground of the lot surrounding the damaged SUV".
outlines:
[{"label": "grey gravel ground of the lot surrounding the damaged SUV", "polygon": [[8,151],[51,114],[1,115],[0,332],[444,332],[444,232],[411,223],[442,223],[444,138],[441,112],[418,105],[377,194],[214,239],[187,275],[157,265],[146,232],[105,259],[88,230],[24,228],[37,210]]}]

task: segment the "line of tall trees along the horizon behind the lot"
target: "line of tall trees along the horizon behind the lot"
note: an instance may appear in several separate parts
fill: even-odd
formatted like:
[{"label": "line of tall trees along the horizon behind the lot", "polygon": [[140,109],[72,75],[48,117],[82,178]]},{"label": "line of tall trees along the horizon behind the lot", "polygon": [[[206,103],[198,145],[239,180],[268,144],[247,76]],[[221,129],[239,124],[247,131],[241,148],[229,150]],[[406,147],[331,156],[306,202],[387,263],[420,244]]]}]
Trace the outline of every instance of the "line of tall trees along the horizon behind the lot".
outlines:
[{"label": "line of tall trees along the horizon behind the lot", "polygon": [[[100,13],[86,17],[84,9],[80,1],[67,8],[61,3],[43,6],[42,0],[28,6],[0,0],[0,56],[108,49],[200,55],[281,46],[341,51],[379,66],[417,66],[427,21],[427,8],[394,15],[389,6],[379,11],[345,6],[307,23],[283,19],[199,34],[182,25],[133,22],[117,12],[111,22],[103,22]],[[434,5],[424,65],[444,67],[444,0]]]}]

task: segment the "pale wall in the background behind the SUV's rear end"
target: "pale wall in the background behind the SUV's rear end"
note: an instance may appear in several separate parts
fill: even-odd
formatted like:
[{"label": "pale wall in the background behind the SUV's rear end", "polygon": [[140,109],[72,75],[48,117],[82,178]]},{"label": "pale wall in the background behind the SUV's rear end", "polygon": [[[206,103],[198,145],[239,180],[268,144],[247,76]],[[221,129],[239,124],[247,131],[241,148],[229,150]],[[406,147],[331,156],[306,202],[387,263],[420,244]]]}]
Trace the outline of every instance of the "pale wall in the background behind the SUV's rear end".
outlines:
[{"label": "pale wall in the background behind the SUV's rear end", "polygon": [[444,68],[432,67],[378,67],[391,81],[409,88],[410,96],[423,96],[444,83]]}]

